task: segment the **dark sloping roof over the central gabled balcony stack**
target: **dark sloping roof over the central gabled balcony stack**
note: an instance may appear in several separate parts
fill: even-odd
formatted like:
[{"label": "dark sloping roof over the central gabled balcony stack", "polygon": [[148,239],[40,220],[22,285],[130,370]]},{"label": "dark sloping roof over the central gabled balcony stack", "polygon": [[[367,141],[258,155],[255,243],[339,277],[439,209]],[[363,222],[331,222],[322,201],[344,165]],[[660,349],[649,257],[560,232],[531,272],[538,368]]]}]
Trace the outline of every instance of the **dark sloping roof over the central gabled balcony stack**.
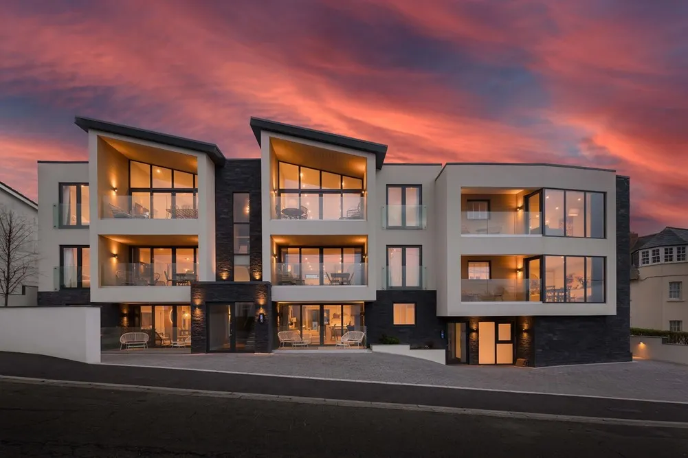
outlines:
[{"label": "dark sloping roof over the central gabled balcony stack", "polygon": [[303,138],[304,140],[312,140],[314,142],[321,142],[332,144],[334,146],[342,146],[344,148],[356,149],[358,151],[365,151],[375,155],[375,166],[380,169],[383,168],[385,162],[385,155],[387,155],[387,145],[375,142],[368,142],[358,138],[345,137],[336,133],[328,133],[323,131],[316,131],[306,127],[293,126],[292,124],[284,124],[283,122],[271,121],[268,119],[255,118],[251,116],[250,126],[253,130],[259,146],[261,145],[261,131],[268,131],[274,133],[281,133],[282,135],[290,135],[291,137]]}]

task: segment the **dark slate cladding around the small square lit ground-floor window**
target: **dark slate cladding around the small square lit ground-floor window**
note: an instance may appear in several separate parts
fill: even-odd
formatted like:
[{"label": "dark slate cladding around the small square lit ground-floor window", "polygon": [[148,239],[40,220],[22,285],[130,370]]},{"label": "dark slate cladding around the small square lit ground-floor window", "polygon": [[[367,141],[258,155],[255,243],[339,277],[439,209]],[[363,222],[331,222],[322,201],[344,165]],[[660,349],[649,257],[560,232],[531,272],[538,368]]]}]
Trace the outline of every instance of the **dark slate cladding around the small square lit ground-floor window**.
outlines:
[{"label": "dark slate cladding around the small square lit ground-floor window", "polygon": [[[395,326],[394,303],[415,303],[416,325]],[[437,316],[437,292],[433,290],[378,291],[375,302],[365,303],[365,327],[368,344],[378,343],[385,334],[411,347],[447,348],[447,325]]]}]

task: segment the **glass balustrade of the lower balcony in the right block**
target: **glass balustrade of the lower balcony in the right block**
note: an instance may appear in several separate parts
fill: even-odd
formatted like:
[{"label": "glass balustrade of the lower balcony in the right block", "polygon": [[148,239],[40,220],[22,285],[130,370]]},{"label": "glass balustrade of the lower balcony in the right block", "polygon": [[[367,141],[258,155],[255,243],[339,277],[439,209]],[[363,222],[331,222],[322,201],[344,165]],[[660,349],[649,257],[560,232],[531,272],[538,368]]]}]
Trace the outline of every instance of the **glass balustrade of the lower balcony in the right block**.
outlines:
[{"label": "glass balustrade of the lower balcony in the right block", "polygon": [[539,279],[462,279],[462,302],[539,301]]}]

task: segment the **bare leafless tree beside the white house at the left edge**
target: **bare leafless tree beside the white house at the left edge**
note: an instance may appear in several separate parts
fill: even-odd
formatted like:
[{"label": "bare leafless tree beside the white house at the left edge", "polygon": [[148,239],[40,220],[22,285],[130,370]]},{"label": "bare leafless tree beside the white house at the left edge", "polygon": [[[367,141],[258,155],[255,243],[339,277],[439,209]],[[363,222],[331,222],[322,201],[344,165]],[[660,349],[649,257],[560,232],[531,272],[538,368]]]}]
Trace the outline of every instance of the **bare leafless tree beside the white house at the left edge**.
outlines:
[{"label": "bare leafless tree beside the white house at the left edge", "polygon": [[32,219],[0,206],[0,294],[5,307],[10,294],[38,272]]}]

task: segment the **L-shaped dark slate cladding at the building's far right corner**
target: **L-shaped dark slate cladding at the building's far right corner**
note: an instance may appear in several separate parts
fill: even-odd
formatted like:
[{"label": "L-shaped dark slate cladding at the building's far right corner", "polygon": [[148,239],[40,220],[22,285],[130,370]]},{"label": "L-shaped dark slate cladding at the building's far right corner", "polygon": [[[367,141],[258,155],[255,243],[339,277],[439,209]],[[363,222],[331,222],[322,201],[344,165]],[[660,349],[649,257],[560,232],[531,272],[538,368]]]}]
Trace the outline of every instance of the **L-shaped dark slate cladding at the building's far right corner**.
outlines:
[{"label": "L-shaped dark slate cladding at the building's far right corner", "polygon": [[535,317],[535,366],[632,360],[629,186],[616,177],[616,315]]}]

